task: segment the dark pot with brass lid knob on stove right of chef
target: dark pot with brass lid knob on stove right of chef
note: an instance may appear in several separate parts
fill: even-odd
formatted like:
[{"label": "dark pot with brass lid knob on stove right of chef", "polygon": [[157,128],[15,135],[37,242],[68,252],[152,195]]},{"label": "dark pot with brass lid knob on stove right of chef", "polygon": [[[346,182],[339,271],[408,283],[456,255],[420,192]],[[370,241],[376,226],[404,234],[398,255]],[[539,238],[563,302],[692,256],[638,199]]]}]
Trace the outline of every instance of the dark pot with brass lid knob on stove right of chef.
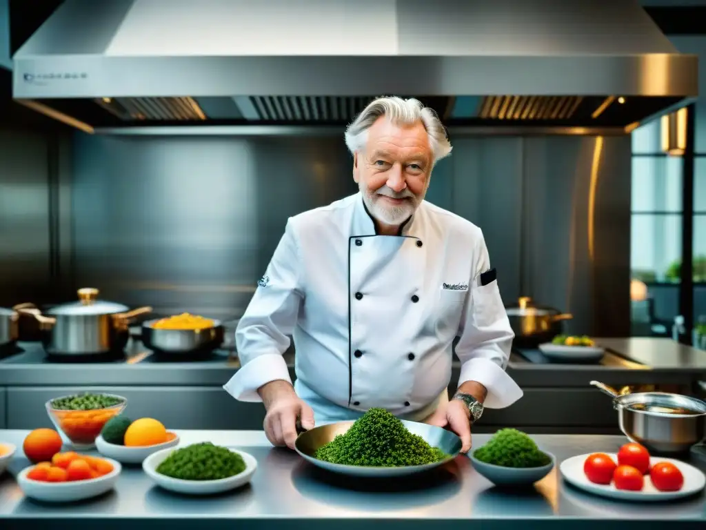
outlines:
[{"label": "dark pot with brass lid knob on stove right of chef", "polygon": [[563,332],[563,321],[573,315],[562,313],[554,307],[534,305],[532,299],[523,296],[514,307],[505,307],[510,326],[515,331],[515,346],[537,346],[549,342]]}]

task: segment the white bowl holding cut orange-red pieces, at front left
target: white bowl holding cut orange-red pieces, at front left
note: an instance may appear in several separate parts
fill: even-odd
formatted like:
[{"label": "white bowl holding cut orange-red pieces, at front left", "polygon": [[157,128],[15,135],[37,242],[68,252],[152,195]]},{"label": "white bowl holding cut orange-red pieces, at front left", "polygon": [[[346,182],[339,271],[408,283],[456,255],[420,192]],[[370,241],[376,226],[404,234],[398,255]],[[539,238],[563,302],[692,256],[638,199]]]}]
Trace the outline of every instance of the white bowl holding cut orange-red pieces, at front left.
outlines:
[{"label": "white bowl holding cut orange-red pieces, at front left", "polygon": [[20,485],[20,490],[28,497],[46,502],[73,502],[90,499],[90,497],[97,497],[112,490],[122,471],[120,462],[110,458],[105,458],[105,460],[112,464],[113,471],[98,478],[71,482],[32,481],[31,478],[27,478],[27,473],[34,466],[28,466],[18,474],[17,483]]}]

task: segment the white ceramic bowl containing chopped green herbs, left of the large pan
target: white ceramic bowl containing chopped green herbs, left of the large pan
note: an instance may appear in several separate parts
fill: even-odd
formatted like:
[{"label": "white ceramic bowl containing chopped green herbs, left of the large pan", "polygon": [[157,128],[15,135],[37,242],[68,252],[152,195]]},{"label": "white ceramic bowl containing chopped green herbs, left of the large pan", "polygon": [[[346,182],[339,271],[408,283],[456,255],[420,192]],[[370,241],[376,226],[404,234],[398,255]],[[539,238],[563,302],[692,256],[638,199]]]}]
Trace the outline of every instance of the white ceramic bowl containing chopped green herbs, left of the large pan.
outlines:
[{"label": "white ceramic bowl containing chopped green herbs, left of the large pan", "polygon": [[147,473],[147,476],[155,481],[157,485],[162,486],[165,490],[174,491],[176,493],[186,493],[189,495],[211,495],[213,493],[223,493],[228,490],[239,488],[250,482],[253,473],[258,467],[258,461],[249,453],[242,451],[237,452],[245,461],[245,471],[228,478],[220,478],[216,481],[184,481],[180,478],[172,478],[162,473],[157,473],[157,466],[162,464],[162,461],[169,457],[172,452],[176,451],[174,447],[162,449],[156,453],[150,454],[142,463],[142,469]]}]

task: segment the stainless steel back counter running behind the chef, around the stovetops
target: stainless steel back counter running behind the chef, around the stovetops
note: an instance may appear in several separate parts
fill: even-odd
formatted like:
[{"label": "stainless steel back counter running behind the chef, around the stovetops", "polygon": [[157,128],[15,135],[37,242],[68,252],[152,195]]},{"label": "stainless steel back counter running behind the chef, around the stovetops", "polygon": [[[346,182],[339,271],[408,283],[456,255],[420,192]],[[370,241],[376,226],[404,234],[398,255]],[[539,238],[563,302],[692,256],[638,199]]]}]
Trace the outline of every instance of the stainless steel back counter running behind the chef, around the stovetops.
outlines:
[{"label": "stainless steel back counter running behind the chef, around the stovetops", "polygon": [[[683,384],[706,379],[706,351],[664,338],[598,338],[599,343],[625,358],[604,365],[532,364],[513,353],[508,374],[520,387],[585,387],[591,379],[614,386],[624,384]],[[38,343],[20,346],[41,348]],[[221,386],[239,369],[236,357],[219,360],[153,363],[145,348],[131,341],[127,361],[118,363],[18,363],[0,359],[0,387],[7,386]],[[285,353],[294,378],[294,351]],[[460,375],[455,361],[452,384]]]}]

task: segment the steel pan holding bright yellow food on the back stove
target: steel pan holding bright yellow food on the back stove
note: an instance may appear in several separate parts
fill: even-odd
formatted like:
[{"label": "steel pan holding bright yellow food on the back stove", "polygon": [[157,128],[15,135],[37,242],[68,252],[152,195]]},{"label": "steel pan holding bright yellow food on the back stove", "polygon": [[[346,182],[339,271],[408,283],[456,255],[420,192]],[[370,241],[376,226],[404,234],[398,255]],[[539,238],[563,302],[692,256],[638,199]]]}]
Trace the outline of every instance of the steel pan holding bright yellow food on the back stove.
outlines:
[{"label": "steel pan holding bright yellow food on the back stove", "polygon": [[159,319],[142,324],[142,343],[156,353],[193,355],[214,351],[223,343],[224,331],[220,320],[202,329],[155,329]]}]

